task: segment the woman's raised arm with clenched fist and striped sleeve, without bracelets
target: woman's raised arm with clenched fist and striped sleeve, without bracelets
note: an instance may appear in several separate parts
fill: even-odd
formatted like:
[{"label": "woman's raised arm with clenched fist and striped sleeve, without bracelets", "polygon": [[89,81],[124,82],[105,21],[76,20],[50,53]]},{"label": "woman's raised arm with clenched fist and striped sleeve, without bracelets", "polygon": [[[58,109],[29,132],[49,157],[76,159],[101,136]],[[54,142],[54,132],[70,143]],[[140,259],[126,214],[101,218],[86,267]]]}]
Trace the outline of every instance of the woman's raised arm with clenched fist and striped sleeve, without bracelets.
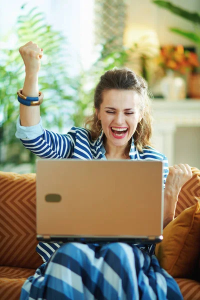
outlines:
[{"label": "woman's raised arm with clenched fist and striped sleeve, without bracelets", "polygon": [[[43,49],[32,41],[19,48],[25,65],[25,81],[22,94],[38,96],[38,71]],[[76,139],[75,130],[68,134],[58,134],[42,128],[39,105],[27,106],[20,103],[20,115],[17,120],[15,136],[20,138],[24,147],[43,158],[67,158],[73,153]]]}]

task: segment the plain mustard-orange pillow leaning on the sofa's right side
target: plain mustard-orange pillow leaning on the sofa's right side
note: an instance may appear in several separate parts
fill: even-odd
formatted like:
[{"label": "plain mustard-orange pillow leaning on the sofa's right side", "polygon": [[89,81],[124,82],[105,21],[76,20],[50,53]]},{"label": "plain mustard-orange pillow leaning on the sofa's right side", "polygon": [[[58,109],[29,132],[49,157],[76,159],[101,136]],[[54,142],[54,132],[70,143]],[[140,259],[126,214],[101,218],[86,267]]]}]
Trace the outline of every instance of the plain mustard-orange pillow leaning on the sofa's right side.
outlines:
[{"label": "plain mustard-orange pillow leaning on the sofa's right side", "polygon": [[[195,197],[200,201],[200,197]],[[163,229],[163,240],[156,244],[160,266],[171,276],[195,278],[200,255],[200,203],[183,210]]]}]

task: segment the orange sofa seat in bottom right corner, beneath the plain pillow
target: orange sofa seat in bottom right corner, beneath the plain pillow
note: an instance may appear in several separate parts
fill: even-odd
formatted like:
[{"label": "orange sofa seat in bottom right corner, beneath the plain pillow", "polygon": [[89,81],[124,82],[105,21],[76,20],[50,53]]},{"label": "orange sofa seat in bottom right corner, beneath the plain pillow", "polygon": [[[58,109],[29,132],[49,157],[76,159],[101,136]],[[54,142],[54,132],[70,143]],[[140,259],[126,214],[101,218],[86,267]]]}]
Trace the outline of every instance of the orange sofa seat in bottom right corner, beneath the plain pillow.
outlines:
[{"label": "orange sofa seat in bottom right corner, beneath the plain pillow", "polygon": [[200,299],[200,283],[185,278],[175,278],[184,300],[199,300]]}]

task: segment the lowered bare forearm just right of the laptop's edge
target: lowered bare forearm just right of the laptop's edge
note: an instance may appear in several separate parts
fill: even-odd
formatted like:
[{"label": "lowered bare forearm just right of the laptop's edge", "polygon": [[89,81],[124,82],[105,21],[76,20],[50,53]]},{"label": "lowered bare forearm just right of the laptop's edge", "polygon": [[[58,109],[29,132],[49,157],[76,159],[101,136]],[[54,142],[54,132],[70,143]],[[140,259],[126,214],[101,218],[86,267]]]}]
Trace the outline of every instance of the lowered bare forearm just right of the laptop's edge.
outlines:
[{"label": "lowered bare forearm just right of the laptop's edge", "polygon": [[171,189],[170,186],[165,186],[163,228],[174,219],[178,194],[179,191]]}]

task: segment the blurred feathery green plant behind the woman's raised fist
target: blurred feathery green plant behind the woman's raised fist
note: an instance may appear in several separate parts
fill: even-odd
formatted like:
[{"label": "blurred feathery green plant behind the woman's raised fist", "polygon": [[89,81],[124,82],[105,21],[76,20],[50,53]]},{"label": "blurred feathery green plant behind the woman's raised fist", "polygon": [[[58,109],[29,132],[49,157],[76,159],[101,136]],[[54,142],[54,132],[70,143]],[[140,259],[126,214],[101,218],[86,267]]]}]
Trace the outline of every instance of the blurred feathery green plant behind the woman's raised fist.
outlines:
[{"label": "blurred feathery green plant behind the woman's raised fist", "polygon": [[[13,38],[16,43],[8,48],[7,45]],[[49,127],[56,124],[61,129],[65,117],[63,107],[73,99],[70,93],[73,88],[71,78],[66,73],[67,53],[62,49],[66,39],[60,32],[53,30],[51,25],[46,24],[44,14],[38,12],[37,7],[25,13],[23,5],[15,31],[2,39],[6,47],[0,49],[0,140],[1,146],[3,140],[3,145],[9,148],[5,160],[16,164],[23,162],[24,157],[21,155],[23,146],[14,135],[19,114],[16,90],[23,86],[25,75],[18,48],[29,40],[42,45],[45,51],[39,74],[39,89],[45,93],[45,101],[40,106],[44,125]],[[34,155],[29,152],[29,158],[26,159],[34,161]]]}]

